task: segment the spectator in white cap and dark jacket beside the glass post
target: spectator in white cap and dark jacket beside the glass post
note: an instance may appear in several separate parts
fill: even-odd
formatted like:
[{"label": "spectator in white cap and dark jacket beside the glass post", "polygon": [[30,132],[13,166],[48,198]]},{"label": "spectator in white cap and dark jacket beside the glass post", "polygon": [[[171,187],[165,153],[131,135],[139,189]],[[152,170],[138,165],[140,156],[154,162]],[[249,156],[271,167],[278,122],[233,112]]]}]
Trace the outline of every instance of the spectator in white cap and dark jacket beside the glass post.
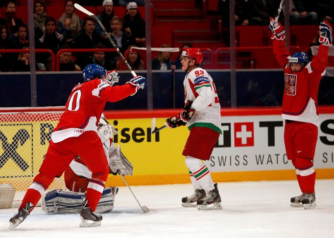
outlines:
[{"label": "spectator in white cap and dark jacket beside the glass post", "polygon": [[138,11],[137,3],[131,1],[127,4],[127,13],[122,19],[123,32],[128,36],[133,36],[137,46],[145,43],[145,21]]}]

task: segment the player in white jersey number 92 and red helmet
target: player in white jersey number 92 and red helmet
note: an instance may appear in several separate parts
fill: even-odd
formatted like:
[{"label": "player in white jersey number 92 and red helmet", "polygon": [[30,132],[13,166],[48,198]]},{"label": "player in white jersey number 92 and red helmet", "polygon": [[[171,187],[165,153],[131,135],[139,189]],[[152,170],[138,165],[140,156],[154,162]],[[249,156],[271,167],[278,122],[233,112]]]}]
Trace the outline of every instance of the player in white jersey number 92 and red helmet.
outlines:
[{"label": "player in white jersey number 92 and red helmet", "polygon": [[[182,198],[182,206],[199,210],[222,209],[217,184],[213,183],[203,160],[209,160],[221,131],[220,104],[215,84],[206,70],[200,68],[203,53],[198,48],[188,48],[181,54],[182,70],[187,72],[185,107],[166,120],[169,128],[187,125],[190,130],[183,150],[189,169],[194,194]],[[195,204],[194,204],[195,203]]]}]

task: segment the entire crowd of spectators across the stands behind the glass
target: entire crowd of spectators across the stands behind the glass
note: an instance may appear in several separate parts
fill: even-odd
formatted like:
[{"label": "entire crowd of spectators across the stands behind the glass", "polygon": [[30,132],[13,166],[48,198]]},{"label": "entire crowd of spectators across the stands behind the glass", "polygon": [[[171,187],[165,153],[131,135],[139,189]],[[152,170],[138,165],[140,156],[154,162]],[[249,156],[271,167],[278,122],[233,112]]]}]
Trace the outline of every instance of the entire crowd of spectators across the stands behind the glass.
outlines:
[{"label": "entire crowd of spectators across the stands behind the glass", "polygon": [[[60,70],[81,70],[88,63],[95,62],[107,69],[119,67],[117,52],[103,52],[101,49],[113,48],[111,38],[122,54],[130,45],[144,47],[145,21],[138,11],[138,5],[144,0],[64,0],[64,12],[59,19],[48,15],[48,6],[44,0],[34,0],[34,39],[28,37],[28,27],[16,14],[15,0],[1,1],[0,4],[0,49],[23,49],[29,41],[35,42],[37,49],[49,49],[54,55],[60,49],[100,49],[96,52],[66,52],[59,58],[62,63]],[[76,14],[74,3],[81,5],[101,6],[102,11],[97,17],[102,22],[106,33],[92,17],[80,18]],[[197,2],[197,1],[196,1]],[[281,0],[235,0],[236,25],[268,25],[276,17]],[[290,5],[291,24],[318,24],[324,19],[333,23],[334,0],[288,0]],[[114,14],[114,5],[124,6],[126,14],[123,18]],[[229,0],[218,0],[218,13],[222,17],[224,28],[229,27]],[[26,19],[25,19],[26,20]],[[280,22],[284,22],[283,11]],[[191,44],[190,44],[191,45]],[[190,47],[183,45],[183,47]],[[163,47],[167,47],[164,45]],[[169,46],[168,46],[169,47]],[[66,57],[70,55],[68,61]],[[179,69],[180,62],[171,62],[170,52],[160,52],[152,62],[153,69]],[[19,53],[0,54],[0,71],[16,71],[15,65]],[[128,54],[129,62],[135,68],[143,68],[139,52]],[[130,57],[132,59],[130,60]],[[136,59],[134,60],[134,58]],[[21,57],[23,59],[23,57]],[[22,61],[21,59],[21,61]],[[37,53],[38,70],[51,70],[49,53]],[[19,62],[22,64],[22,62]],[[25,62],[26,64],[26,62]],[[131,65],[130,64],[130,65]],[[44,65],[44,66],[43,66]],[[27,69],[27,67],[24,67]]]}]

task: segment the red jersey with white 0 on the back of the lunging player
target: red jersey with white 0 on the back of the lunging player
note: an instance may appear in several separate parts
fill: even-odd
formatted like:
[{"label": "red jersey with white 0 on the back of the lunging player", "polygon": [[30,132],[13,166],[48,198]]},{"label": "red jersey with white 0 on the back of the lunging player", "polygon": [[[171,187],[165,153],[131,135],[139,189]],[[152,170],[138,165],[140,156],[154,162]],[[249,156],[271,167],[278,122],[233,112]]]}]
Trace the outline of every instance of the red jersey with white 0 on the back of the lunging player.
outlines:
[{"label": "red jersey with white 0 on the back of the lunging player", "polygon": [[136,92],[131,84],[111,87],[108,82],[95,79],[76,85],[66,103],[66,110],[51,134],[54,143],[81,135],[86,130],[97,131],[106,102],[117,102]]}]

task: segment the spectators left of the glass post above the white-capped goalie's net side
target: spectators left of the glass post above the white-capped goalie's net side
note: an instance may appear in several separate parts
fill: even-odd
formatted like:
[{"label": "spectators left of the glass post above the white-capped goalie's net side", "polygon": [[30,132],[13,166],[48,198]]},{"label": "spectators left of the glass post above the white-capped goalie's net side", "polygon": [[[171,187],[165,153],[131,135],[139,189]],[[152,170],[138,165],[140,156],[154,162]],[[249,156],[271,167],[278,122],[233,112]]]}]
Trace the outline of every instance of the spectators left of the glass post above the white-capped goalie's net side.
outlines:
[{"label": "spectators left of the glass post above the white-capped goalie's net side", "polygon": [[[102,12],[98,19],[102,22],[104,32],[93,17],[81,19],[76,14],[74,3],[82,5],[99,4]],[[114,15],[114,4],[124,6],[127,13],[123,18]],[[82,70],[87,64],[98,64],[107,70],[116,68],[119,61],[117,52],[104,52],[105,48],[113,48],[112,39],[124,54],[130,45],[145,46],[145,22],[138,11],[138,5],[144,1],[128,0],[64,0],[64,12],[59,19],[48,15],[48,7],[44,0],[34,0],[34,39],[29,39],[28,27],[16,14],[16,1],[6,0],[1,3],[0,11],[0,49],[26,49],[29,41],[35,42],[36,49],[49,49],[59,55],[59,70]],[[108,36],[108,35],[110,36]],[[110,39],[109,39],[110,38]],[[96,52],[65,52],[66,49],[95,49]],[[133,53],[131,53],[132,56]],[[137,67],[143,67],[133,62]],[[54,59],[55,60],[55,59]],[[0,71],[29,71],[30,55],[27,52],[1,53]],[[36,53],[36,70],[51,70],[49,53]]]}]

